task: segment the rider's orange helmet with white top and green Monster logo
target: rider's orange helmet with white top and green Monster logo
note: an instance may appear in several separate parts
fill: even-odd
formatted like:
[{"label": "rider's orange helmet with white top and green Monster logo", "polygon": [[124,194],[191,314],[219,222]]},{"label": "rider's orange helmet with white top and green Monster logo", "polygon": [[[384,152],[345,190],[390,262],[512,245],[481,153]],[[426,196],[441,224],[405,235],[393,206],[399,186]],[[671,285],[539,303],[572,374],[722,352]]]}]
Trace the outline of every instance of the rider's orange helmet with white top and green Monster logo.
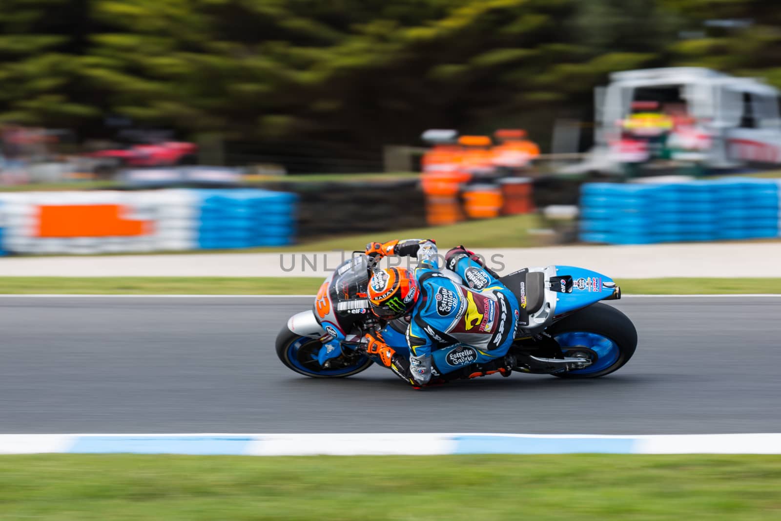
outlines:
[{"label": "rider's orange helmet with white top and green Monster logo", "polygon": [[385,268],[369,279],[369,302],[381,319],[398,319],[407,315],[418,300],[418,283],[408,269]]}]

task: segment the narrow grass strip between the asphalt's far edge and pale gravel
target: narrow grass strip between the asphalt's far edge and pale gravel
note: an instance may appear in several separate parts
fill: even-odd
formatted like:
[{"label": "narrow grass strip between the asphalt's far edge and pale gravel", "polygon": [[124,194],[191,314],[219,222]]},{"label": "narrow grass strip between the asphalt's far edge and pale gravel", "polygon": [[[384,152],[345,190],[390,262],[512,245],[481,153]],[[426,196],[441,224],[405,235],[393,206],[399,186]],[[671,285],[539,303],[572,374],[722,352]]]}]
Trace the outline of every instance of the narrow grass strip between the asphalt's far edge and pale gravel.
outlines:
[{"label": "narrow grass strip between the asphalt's far edge and pale gravel", "polygon": [[[623,294],[781,294],[781,279],[618,280]],[[320,277],[0,277],[0,294],[316,294]]]}]

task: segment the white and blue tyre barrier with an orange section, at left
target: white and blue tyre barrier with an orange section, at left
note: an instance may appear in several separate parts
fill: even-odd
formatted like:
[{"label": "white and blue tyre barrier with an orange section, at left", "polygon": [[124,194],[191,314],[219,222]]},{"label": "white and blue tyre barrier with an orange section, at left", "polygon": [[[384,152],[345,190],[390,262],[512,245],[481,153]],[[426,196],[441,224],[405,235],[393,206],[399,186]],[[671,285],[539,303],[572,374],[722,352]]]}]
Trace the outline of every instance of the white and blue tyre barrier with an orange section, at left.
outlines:
[{"label": "white and blue tyre barrier with an orange section, at left", "polygon": [[294,239],[295,196],[262,190],[0,194],[9,253],[245,248]]}]

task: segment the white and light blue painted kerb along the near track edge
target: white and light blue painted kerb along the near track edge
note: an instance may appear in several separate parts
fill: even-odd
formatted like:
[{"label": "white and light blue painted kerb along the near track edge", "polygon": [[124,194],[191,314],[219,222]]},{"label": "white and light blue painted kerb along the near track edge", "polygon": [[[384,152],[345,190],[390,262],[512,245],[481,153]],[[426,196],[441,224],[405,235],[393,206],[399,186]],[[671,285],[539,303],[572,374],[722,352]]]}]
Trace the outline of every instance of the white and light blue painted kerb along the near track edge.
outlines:
[{"label": "white and light blue painted kerb along the near track edge", "polygon": [[0,454],[781,454],[781,434],[0,434]]}]

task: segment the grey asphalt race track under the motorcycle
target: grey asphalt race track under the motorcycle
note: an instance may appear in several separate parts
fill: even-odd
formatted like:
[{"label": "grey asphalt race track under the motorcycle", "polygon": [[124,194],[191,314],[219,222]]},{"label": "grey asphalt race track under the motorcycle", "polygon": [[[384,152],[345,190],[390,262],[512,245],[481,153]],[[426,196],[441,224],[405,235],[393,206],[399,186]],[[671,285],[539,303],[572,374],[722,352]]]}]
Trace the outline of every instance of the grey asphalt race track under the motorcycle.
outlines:
[{"label": "grey asphalt race track under the motorcycle", "polygon": [[0,298],[0,433],[781,432],[781,298],[626,298],[640,344],[595,380],[412,391],[273,351],[308,298]]}]

